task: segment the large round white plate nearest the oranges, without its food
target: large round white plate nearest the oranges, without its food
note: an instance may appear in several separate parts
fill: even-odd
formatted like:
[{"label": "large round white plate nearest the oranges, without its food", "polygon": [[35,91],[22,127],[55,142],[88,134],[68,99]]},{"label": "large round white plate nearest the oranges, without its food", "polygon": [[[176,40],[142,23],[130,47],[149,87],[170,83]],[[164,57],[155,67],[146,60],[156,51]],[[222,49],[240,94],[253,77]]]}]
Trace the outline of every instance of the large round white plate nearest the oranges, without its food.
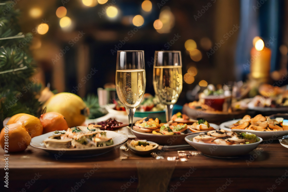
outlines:
[{"label": "large round white plate nearest the oranges, without its food", "polygon": [[[113,145],[111,146],[105,146],[105,147],[94,147],[94,148],[85,148],[85,149],[65,149],[65,148],[59,148],[59,149],[47,149],[43,143],[43,140],[46,138],[55,135],[54,132],[49,132],[40,136],[33,137],[31,139],[30,145],[36,148],[43,149],[44,151],[47,151],[49,153],[53,153],[56,156],[69,156],[69,157],[90,157],[90,156],[96,156],[101,155],[104,153],[107,153],[115,148],[118,147],[118,145],[123,144],[127,141],[128,137],[124,136],[122,134],[115,133],[113,131],[105,131],[107,137],[111,137],[113,139]],[[58,156],[57,156],[58,155]]]}]

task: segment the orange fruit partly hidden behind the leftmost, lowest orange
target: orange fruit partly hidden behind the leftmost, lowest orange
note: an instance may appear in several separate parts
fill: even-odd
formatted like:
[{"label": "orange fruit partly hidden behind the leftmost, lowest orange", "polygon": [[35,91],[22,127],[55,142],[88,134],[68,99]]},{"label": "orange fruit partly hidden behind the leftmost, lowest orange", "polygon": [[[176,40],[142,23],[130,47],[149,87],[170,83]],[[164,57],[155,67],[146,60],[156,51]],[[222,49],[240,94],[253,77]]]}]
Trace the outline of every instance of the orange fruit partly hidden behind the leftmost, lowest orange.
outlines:
[{"label": "orange fruit partly hidden behind the leftmost, lowest orange", "polygon": [[13,115],[11,119],[9,119],[9,121],[7,122],[7,125],[17,122],[21,122],[22,126],[26,129],[31,138],[39,136],[43,132],[43,126],[40,120],[33,115],[29,115],[26,113],[19,113]]}]

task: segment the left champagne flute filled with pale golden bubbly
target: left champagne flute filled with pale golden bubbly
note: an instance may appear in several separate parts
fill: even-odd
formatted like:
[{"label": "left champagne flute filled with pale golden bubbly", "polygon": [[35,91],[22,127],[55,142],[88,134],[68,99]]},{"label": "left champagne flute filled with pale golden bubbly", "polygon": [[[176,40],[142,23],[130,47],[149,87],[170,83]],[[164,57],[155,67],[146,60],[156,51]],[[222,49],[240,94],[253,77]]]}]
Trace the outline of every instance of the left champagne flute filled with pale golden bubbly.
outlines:
[{"label": "left champagne flute filled with pale golden bubbly", "polygon": [[144,51],[117,51],[116,91],[126,108],[131,128],[136,108],[145,93]]}]

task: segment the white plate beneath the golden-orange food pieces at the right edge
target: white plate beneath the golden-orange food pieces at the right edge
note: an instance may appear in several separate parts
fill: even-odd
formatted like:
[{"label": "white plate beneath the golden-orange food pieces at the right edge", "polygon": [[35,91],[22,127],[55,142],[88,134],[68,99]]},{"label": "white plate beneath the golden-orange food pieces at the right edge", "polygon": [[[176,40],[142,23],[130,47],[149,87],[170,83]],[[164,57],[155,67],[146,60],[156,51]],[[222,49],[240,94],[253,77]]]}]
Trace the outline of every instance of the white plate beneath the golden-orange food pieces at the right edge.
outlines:
[{"label": "white plate beneath the golden-orange food pieces at the right edge", "polygon": [[263,140],[275,140],[279,137],[282,137],[284,135],[288,134],[287,131],[255,131],[255,130],[246,130],[246,129],[230,129],[230,126],[236,123],[237,121],[240,121],[241,119],[234,119],[231,121],[226,121],[224,123],[220,124],[220,129],[224,129],[227,131],[234,131],[234,132],[248,132],[253,133],[258,137],[261,137]]}]

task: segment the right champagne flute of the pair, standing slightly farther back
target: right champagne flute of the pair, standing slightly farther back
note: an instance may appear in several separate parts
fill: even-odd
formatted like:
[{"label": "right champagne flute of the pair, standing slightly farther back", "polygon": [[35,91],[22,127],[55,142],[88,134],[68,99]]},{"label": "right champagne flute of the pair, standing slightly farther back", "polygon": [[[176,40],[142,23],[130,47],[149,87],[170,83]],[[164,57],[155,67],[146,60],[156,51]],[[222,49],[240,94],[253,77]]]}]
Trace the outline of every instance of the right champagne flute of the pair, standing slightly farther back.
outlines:
[{"label": "right champagne flute of the pair, standing slightly farther back", "polygon": [[182,91],[182,62],[180,51],[155,51],[153,67],[155,94],[166,105],[166,121],[172,117],[173,105]]}]

